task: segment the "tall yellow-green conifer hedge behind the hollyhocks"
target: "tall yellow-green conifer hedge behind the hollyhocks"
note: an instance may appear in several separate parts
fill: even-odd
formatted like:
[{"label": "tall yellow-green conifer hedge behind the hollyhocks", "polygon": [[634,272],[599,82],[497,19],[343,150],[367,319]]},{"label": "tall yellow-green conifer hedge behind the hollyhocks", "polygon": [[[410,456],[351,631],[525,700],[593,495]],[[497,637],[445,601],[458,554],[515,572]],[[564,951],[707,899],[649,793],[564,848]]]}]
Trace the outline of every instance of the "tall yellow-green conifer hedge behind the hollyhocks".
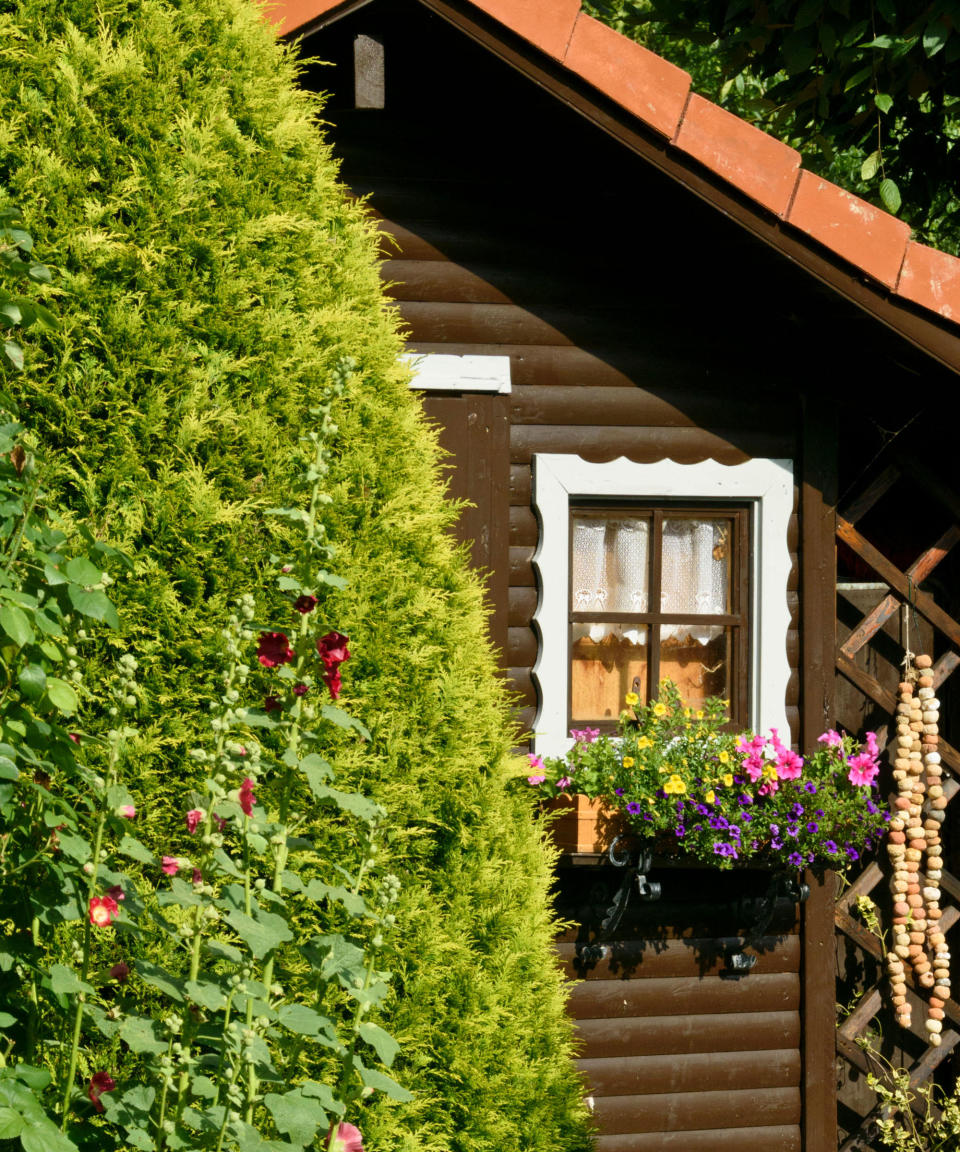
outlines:
[{"label": "tall yellow-green conifer hedge behind the hollyhocks", "polygon": [[345,699],[373,740],[339,771],[396,828],[387,1023],[416,1092],[370,1108],[368,1145],[587,1147],[549,866],[507,786],[478,590],[313,98],[248,0],[0,0],[0,195],[59,268],[62,318],[14,386],[56,502],[135,559],[113,643],[145,669],[158,850],[204,732],[205,657],[269,568],[260,510],[284,502],[311,396],[350,355],[330,508],[349,588],[325,611],[352,636]]}]

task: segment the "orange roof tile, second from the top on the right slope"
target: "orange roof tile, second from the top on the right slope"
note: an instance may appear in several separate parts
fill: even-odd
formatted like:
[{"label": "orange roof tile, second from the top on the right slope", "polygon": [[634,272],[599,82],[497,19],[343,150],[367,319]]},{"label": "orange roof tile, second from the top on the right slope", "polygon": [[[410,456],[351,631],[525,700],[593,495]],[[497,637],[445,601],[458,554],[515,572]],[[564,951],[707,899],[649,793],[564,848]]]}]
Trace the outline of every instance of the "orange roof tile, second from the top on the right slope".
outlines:
[{"label": "orange roof tile, second from the top on the right slope", "polygon": [[581,13],[564,65],[628,112],[673,137],[690,77],[682,68]]}]

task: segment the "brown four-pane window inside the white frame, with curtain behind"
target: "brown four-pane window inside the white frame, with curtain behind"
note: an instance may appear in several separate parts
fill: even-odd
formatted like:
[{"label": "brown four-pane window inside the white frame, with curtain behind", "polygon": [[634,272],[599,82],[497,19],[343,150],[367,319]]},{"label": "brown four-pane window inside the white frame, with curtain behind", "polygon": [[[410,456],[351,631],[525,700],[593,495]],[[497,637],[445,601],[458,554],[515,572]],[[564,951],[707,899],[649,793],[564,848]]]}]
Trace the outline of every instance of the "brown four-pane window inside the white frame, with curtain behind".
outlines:
[{"label": "brown four-pane window inside the white frame, with curtain behind", "polygon": [[749,507],[570,503],[570,727],[613,730],[670,679],[747,723]]}]

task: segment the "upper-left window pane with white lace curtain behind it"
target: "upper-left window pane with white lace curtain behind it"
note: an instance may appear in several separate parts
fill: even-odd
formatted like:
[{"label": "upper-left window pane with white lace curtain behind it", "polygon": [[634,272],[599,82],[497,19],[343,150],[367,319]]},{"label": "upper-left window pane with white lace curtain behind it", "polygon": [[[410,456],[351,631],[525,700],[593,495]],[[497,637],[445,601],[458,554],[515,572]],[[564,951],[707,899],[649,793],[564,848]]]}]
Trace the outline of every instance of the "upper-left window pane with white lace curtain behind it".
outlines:
[{"label": "upper-left window pane with white lace curtain behind it", "polygon": [[647,612],[649,520],[580,513],[573,517],[574,612]]}]

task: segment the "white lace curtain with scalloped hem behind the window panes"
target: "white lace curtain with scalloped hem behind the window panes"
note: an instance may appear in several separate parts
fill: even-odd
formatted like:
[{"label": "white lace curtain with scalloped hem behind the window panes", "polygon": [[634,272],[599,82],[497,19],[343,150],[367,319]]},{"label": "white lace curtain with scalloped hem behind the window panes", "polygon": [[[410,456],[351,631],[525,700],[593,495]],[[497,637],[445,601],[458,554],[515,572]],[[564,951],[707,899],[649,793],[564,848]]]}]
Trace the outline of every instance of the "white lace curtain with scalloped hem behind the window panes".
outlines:
[{"label": "white lace curtain with scalloped hem behind the window panes", "polygon": [[[689,615],[728,611],[728,535],[723,520],[664,520],[660,611]],[[574,518],[574,612],[648,612],[650,522],[630,518]],[[660,639],[688,637],[708,644],[723,631],[719,626],[662,626]],[[600,643],[622,636],[647,643],[647,629],[620,624],[574,626],[574,639],[589,636]]]}]

